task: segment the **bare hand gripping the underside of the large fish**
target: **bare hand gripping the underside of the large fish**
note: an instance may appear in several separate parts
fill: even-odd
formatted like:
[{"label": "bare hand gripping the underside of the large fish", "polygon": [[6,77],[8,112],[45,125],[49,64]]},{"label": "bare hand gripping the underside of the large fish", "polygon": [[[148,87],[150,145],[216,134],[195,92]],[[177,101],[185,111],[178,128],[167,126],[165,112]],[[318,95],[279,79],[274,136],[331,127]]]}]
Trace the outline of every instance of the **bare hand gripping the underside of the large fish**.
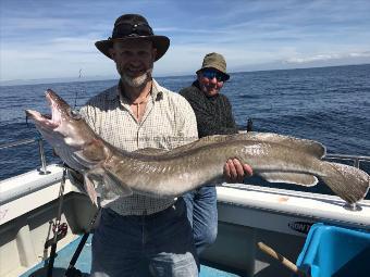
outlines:
[{"label": "bare hand gripping the underside of the large fish", "polygon": [[243,182],[244,177],[254,174],[249,164],[242,164],[237,159],[229,159],[223,166],[223,176],[227,182]]}]

